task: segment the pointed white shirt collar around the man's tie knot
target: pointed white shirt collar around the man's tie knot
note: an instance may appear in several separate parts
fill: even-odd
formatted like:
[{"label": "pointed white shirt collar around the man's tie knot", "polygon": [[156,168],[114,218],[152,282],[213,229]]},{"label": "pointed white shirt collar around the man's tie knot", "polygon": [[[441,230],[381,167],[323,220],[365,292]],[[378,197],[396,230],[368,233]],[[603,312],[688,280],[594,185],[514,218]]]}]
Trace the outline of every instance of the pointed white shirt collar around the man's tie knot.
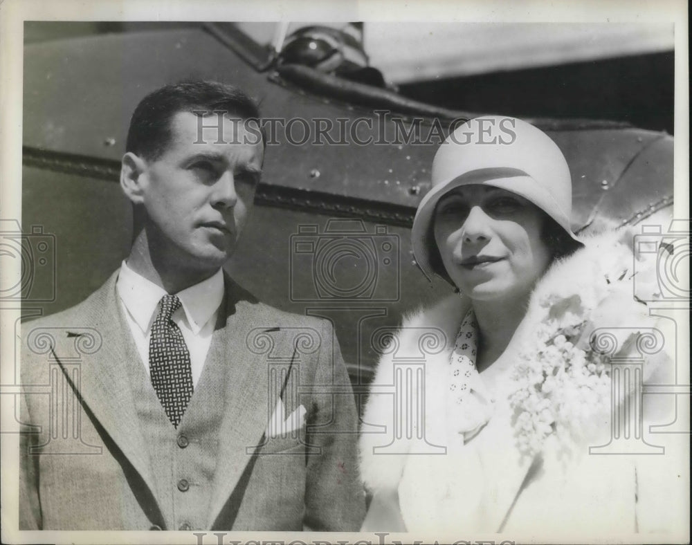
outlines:
[{"label": "pointed white shirt collar around the man's tie knot", "polygon": [[[156,317],[158,302],[166,295],[166,290],[136,273],[125,261],[122,261],[120,266],[116,286],[125,308],[146,334]],[[197,335],[221,305],[224,298],[224,273],[219,268],[215,275],[179,291],[176,295],[183,306],[192,333]]]}]

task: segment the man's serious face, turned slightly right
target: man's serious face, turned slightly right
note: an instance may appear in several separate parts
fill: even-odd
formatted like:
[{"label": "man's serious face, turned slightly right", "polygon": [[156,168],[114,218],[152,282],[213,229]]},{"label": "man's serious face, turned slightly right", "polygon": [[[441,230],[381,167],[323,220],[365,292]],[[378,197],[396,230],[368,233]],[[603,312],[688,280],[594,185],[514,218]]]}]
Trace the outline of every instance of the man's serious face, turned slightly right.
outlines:
[{"label": "man's serious face, turned slightly right", "polygon": [[176,113],[166,151],[143,161],[141,195],[152,258],[212,270],[233,253],[253,206],[264,149],[246,122],[223,122],[223,142],[217,143],[216,130],[213,138],[208,131],[200,138],[193,113]]}]

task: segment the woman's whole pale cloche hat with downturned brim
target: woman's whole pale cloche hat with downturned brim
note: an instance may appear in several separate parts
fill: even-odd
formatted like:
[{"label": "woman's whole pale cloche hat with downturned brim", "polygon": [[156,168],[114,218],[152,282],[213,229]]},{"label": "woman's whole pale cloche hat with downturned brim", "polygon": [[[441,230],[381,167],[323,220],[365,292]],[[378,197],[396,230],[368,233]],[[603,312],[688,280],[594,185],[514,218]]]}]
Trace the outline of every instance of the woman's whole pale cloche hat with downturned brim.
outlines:
[{"label": "woman's whole pale cloche hat with downturned brim", "polygon": [[579,242],[570,226],[570,168],[556,143],[540,129],[516,118],[474,118],[459,125],[437,150],[432,160],[432,188],[413,220],[413,253],[428,277],[440,273],[430,260],[437,201],[456,187],[476,184],[500,187],[526,198]]}]

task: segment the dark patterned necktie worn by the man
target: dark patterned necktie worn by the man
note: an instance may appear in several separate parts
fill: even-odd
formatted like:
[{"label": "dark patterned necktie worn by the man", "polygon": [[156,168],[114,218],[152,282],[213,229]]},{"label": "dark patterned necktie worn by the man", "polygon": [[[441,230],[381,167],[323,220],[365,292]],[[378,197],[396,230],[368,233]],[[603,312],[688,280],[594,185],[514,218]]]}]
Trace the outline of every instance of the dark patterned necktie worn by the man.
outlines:
[{"label": "dark patterned necktie worn by the man", "polygon": [[149,341],[149,370],[158,399],[174,427],[178,427],[192,397],[192,368],[190,352],[183,333],[172,320],[181,306],[175,295],[164,295],[161,310],[152,326]]}]

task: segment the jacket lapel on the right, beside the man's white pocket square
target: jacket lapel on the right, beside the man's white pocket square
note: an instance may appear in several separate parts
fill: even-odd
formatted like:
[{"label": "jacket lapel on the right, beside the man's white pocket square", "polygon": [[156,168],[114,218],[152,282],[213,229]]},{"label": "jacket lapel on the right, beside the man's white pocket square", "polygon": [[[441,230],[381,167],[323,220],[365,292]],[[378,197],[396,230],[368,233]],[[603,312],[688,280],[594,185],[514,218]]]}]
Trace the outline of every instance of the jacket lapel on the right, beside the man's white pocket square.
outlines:
[{"label": "jacket lapel on the right, beside the man's white pocket square", "polygon": [[[219,513],[238,485],[253,453],[260,445],[269,416],[277,402],[268,388],[268,353],[250,349],[248,335],[255,331],[278,331],[256,302],[242,297],[239,288],[226,277],[225,323],[217,324],[206,365],[221,360],[226,369],[224,403],[226,411],[219,429],[219,452],[215,485],[210,501],[208,527],[213,528]],[[220,317],[221,318],[221,317]]]}]

